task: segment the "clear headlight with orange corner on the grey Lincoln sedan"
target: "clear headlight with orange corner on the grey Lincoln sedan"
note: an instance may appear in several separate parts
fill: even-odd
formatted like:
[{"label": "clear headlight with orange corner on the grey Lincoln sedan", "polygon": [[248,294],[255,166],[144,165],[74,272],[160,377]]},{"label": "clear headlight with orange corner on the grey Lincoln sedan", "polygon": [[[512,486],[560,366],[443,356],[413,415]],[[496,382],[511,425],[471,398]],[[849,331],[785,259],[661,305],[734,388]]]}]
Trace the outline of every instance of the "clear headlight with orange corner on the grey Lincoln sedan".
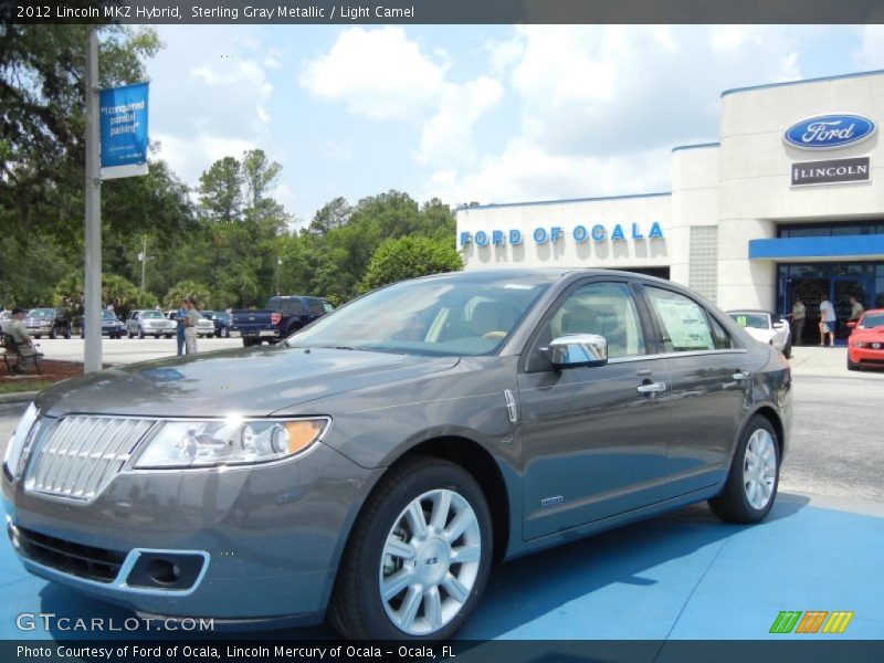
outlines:
[{"label": "clear headlight with orange corner on the grey Lincoln sedan", "polygon": [[306,451],[332,420],[242,419],[165,421],[135,461],[136,470],[267,463]]}]

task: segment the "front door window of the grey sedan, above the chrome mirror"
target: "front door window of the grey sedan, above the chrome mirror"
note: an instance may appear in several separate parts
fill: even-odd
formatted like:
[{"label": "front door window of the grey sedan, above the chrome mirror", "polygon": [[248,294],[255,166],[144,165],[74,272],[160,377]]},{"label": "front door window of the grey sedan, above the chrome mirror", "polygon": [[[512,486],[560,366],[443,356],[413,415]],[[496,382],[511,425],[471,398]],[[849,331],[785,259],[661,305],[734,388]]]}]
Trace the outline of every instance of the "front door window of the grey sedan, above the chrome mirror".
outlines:
[{"label": "front door window of the grey sedan, above the chrome mirror", "polygon": [[644,335],[625,283],[589,283],[575,290],[549,319],[549,337],[598,334],[608,340],[608,357],[644,355]]}]

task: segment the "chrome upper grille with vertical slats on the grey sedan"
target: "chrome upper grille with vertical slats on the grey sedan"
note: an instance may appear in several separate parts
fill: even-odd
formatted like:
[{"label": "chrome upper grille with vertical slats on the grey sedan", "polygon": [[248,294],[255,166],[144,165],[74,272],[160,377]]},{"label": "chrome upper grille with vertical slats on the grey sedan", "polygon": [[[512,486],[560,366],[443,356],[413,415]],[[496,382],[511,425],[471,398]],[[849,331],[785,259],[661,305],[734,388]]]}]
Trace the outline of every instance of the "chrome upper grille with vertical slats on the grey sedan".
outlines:
[{"label": "chrome upper grille with vertical slats on the grey sedan", "polygon": [[80,502],[94,499],[155,423],[82,415],[59,420],[34,450],[25,490]]}]

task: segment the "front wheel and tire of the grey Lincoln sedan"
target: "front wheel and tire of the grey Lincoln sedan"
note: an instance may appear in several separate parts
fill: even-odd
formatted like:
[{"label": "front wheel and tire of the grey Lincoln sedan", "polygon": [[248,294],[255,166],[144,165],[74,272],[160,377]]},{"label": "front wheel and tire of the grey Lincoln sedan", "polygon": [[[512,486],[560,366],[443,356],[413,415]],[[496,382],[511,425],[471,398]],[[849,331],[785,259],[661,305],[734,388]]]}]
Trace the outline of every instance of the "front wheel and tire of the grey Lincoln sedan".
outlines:
[{"label": "front wheel and tire of the grey Lincoln sedan", "polygon": [[[425,535],[411,525],[415,523],[412,514],[420,514]],[[465,526],[457,528],[453,546],[433,536],[455,523]],[[404,555],[390,554],[388,541]],[[467,549],[469,561],[451,561],[452,554]],[[491,513],[475,480],[449,461],[409,459],[381,478],[350,532],[329,622],[352,640],[445,640],[478,604],[491,558]],[[404,580],[393,581],[393,593],[385,599],[381,585],[397,577]],[[402,615],[408,606],[411,610]],[[401,627],[393,621],[400,618]]]}]

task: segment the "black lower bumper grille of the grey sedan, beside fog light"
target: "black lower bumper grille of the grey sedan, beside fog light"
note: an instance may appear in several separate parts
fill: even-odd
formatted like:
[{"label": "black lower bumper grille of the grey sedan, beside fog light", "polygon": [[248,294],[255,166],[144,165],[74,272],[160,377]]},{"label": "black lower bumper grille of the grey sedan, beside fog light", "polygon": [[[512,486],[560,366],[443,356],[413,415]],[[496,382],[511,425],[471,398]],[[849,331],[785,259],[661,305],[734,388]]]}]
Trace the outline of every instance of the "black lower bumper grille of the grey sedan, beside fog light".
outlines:
[{"label": "black lower bumper grille of the grey sedan, beside fog light", "polygon": [[24,527],[15,527],[12,545],[28,559],[97,582],[113,582],[126,559],[126,554],[84,546],[46,536]]}]

